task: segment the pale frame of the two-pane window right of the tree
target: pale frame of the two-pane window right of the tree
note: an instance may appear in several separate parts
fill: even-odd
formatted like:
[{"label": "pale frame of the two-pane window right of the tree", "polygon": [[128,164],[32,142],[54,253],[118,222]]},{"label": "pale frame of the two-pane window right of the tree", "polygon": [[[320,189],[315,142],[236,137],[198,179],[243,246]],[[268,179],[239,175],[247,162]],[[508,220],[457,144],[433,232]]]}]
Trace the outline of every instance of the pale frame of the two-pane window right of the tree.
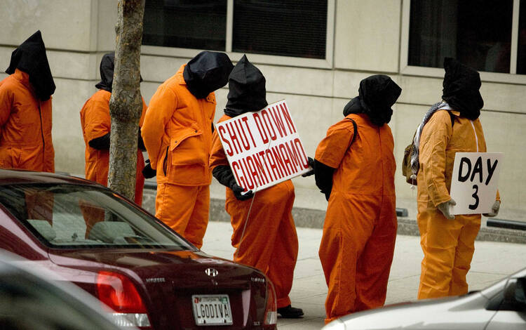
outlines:
[{"label": "pale frame of the two-pane window right of the tree", "polygon": [[[335,39],[335,2],[327,0],[327,34],[325,41],[325,58],[296,58],[293,56],[264,55],[257,53],[246,53],[250,62],[268,65],[286,65],[290,67],[312,67],[321,69],[332,68],[334,61],[334,39]],[[237,60],[243,53],[232,51],[232,32],[234,29],[234,0],[227,0],[227,30],[225,40],[225,51],[232,60]],[[193,58],[198,52],[205,49],[176,48],[166,46],[141,46],[141,55],[170,56],[175,58]]]}]

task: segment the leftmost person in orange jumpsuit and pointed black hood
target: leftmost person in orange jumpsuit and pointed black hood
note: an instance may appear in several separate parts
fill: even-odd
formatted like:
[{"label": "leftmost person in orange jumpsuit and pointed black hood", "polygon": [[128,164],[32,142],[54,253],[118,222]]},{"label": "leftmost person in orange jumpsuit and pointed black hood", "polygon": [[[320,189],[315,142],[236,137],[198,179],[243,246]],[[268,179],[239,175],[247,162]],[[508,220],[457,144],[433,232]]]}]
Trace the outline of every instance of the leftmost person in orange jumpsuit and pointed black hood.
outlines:
[{"label": "leftmost person in orange jumpsuit and pointed black hood", "polygon": [[40,31],[13,51],[6,73],[0,81],[0,167],[54,172],[55,83]]}]

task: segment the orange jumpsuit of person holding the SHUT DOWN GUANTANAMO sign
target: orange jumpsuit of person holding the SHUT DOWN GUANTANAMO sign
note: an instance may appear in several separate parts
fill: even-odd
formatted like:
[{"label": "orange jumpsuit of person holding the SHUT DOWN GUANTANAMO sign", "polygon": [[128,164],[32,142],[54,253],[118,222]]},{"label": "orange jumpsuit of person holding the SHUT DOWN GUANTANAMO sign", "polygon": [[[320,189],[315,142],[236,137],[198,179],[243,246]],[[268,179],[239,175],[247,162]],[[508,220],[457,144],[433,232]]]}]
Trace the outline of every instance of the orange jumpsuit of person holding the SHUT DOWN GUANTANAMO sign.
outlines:
[{"label": "orange jumpsuit of person holding the SHUT DOWN GUANTANAMO sign", "polygon": [[[220,122],[230,118],[224,115]],[[210,167],[214,169],[215,166],[228,165],[217,131],[213,134],[212,144]],[[252,197],[253,203],[252,199],[239,201],[230,188],[225,189],[227,200],[224,209],[229,213],[234,228],[231,237],[232,246],[236,248],[234,261],[264,272],[274,284],[277,307],[290,305],[288,294],[292,289],[298,253],[296,226],[292,218],[295,199],[292,181],[286,180],[256,192]],[[251,203],[252,209],[247,219]]]}]

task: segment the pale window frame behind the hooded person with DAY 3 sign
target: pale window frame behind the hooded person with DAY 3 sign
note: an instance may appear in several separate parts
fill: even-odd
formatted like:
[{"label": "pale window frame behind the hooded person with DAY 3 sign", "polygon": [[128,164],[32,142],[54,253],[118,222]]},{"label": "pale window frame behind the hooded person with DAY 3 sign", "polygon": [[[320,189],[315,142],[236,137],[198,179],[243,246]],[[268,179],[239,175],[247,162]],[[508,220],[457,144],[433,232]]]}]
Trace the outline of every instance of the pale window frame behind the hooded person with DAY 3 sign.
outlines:
[{"label": "pale window frame behind the hooded person with DAY 3 sign", "polygon": [[[517,74],[518,29],[519,29],[520,0],[513,0],[513,14],[511,20],[511,58],[510,72],[485,72],[480,71],[482,81],[502,82],[508,84],[526,84],[526,74]],[[400,38],[400,74],[408,76],[422,76],[443,78],[444,69],[441,67],[417,67],[408,65],[409,56],[409,26],[410,26],[411,0],[402,1],[402,31]]]}]

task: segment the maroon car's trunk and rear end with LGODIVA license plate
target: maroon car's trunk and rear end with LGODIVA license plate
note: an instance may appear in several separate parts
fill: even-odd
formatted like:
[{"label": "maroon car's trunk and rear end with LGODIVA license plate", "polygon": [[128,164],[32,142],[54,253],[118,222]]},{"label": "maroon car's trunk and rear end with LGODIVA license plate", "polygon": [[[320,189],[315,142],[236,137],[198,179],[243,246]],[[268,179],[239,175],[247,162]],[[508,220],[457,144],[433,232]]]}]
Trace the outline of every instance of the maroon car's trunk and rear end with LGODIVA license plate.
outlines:
[{"label": "maroon car's trunk and rear end with LGODIVA license plate", "polygon": [[[69,280],[95,296],[98,270],[127,275],[142,296],[154,329],[262,328],[266,279],[229,260],[202,252],[159,250],[63,251],[50,253],[50,259],[63,268],[92,274],[93,289],[86,276],[82,282]],[[230,320],[231,324],[210,324]]]}]

